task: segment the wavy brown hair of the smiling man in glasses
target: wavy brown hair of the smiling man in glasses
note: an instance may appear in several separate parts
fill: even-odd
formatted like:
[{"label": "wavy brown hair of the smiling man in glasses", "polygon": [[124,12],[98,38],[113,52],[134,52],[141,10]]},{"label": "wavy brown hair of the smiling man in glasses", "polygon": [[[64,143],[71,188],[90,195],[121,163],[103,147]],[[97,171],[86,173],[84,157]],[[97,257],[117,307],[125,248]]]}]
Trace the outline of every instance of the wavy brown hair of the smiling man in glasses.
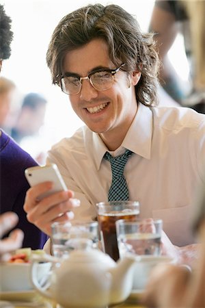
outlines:
[{"label": "wavy brown hair of the smiling man in glasses", "polygon": [[66,53],[94,38],[107,42],[115,66],[125,63],[123,70],[141,72],[141,79],[135,86],[136,99],[144,105],[156,105],[159,57],[153,34],[142,34],[134,16],[118,5],[87,5],[61,19],[46,54],[53,84],[59,84]]}]

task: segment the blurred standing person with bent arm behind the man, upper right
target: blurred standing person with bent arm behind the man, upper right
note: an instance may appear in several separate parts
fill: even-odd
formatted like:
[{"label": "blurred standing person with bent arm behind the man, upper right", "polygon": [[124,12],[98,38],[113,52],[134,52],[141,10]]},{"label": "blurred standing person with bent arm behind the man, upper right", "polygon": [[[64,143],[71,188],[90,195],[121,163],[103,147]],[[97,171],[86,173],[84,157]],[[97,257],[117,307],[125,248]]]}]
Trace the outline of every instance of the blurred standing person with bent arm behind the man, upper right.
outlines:
[{"label": "blurred standing person with bent arm behind the man, upper right", "polygon": [[[189,1],[169,1],[156,0],[150,21],[150,30],[155,33],[155,40],[159,48],[162,66],[159,75],[159,81],[164,90],[180,105],[188,106],[197,112],[205,113],[205,94],[200,88],[195,87],[195,45],[191,38],[191,28],[189,14],[184,8],[184,3]],[[200,2],[201,10],[205,16],[205,1]],[[203,17],[204,18],[204,17]],[[178,33],[184,38],[184,50],[189,63],[189,86],[182,86],[176,70],[169,60],[168,51],[171,49]],[[202,64],[203,65],[203,64]]]}]

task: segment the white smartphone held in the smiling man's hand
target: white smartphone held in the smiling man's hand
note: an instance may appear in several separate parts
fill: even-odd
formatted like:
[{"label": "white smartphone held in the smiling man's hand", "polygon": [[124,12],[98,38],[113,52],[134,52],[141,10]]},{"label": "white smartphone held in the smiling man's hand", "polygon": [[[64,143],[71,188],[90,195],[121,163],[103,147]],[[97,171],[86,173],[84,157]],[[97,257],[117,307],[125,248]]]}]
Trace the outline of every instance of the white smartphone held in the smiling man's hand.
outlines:
[{"label": "white smartphone held in the smiling man's hand", "polygon": [[59,169],[55,164],[48,164],[45,166],[35,166],[27,168],[25,170],[25,177],[29,182],[30,186],[45,182],[52,181],[53,188],[49,192],[45,192],[38,196],[38,199],[41,200],[45,196],[50,196],[54,192],[60,192],[61,190],[67,190],[64,179],[61,177]]}]

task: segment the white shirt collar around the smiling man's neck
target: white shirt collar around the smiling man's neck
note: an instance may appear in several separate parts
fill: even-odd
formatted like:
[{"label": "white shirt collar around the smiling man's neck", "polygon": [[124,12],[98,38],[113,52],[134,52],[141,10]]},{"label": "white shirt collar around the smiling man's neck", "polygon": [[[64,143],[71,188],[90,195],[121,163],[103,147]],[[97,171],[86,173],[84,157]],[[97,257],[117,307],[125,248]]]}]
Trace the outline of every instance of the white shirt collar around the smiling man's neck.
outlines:
[{"label": "white shirt collar around the smiling man's neck", "polygon": [[[108,151],[107,146],[98,135],[92,133],[94,162],[97,170],[100,168],[102,158],[105,152]],[[120,146],[115,152],[121,153],[124,149],[131,150],[133,153],[140,155],[146,159],[151,156],[151,143],[152,143],[152,111],[150,107],[141,103],[138,104],[137,114],[128,129],[126,136]]]}]

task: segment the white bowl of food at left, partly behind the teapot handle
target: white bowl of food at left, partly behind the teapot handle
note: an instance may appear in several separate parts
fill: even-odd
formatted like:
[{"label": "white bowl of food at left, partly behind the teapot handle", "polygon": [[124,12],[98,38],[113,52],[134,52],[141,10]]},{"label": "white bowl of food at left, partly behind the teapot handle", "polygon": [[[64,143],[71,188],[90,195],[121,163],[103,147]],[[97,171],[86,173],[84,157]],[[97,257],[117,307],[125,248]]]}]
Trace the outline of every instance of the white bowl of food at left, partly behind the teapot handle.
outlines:
[{"label": "white bowl of food at left, partly behind the teapot handle", "polygon": [[[41,281],[49,274],[51,263],[38,264],[37,277]],[[32,290],[31,264],[30,263],[5,263],[0,264],[0,292],[16,292]]]}]

